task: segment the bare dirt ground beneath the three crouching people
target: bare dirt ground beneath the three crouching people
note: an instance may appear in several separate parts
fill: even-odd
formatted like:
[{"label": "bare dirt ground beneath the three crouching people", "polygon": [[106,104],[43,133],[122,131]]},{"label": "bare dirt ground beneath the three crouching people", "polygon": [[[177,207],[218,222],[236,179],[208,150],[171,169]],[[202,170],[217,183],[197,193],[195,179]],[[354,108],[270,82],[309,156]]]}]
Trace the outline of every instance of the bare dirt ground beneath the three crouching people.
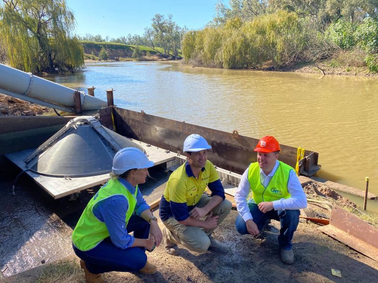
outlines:
[{"label": "bare dirt ground beneath the three crouching people", "polygon": [[[316,195],[318,190],[326,192],[324,186],[316,181],[302,180],[303,187],[309,195]],[[340,199],[341,202],[347,201]],[[341,203],[340,202],[340,203]],[[321,210],[321,209],[320,209]],[[317,213],[327,217],[327,209],[319,211],[318,204],[309,203],[308,209],[302,215]],[[157,215],[158,213],[155,212]],[[263,235],[252,237],[240,235],[235,230],[237,212],[232,210],[225,221],[215,231],[214,237],[229,247],[226,254],[206,252],[199,254],[191,252],[179,245],[180,255],[172,256],[159,246],[148,253],[149,262],[156,264],[158,272],[155,275],[139,273],[110,272],[104,274],[108,283],[242,283],[242,282],[376,282],[378,278],[378,262],[350,249],[346,245],[323,234],[317,229],[319,225],[301,220],[293,239],[295,263],[285,265],[280,260],[277,236],[279,223],[272,221]],[[163,225],[159,221],[159,226]],[[55,267],[62,265],[60,261],[51,261],[25,272],[6,277],[0,283],[32,283],[32,282],[84,282],[84,273],[80,270],[78,258],[73,254],[64,257],[64,262],[71,265],[68,275],[46,277]],[[341,272],[342,277],[335,277],[331,269]],[[47,278],[47,279],[46,279]],[[57,279],[58,278],[58,279]],[[65,279],[63,279],[65,278]]]}]

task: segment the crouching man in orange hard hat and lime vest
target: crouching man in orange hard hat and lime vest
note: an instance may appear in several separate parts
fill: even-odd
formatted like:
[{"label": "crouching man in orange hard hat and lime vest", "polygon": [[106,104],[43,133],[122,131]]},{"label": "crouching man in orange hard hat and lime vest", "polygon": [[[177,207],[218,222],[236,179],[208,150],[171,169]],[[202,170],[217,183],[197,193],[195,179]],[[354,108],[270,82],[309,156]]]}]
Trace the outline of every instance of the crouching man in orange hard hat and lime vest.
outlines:
[{"label": "crouching man in orange hard hat and lime vest", "polygon": [[[291,239],[299,223],[299,209],[307,207],[306,195],[295,170],[278,161],[280,143],[272,136],[263,137],[254,148],[257,162],[244,172],[235,194],[239,215],[236,230],[257,235],[271,219],[281,222],[278,243],[281,260],[294,263]],[[252,193],[252,198],[247,200]]]}]

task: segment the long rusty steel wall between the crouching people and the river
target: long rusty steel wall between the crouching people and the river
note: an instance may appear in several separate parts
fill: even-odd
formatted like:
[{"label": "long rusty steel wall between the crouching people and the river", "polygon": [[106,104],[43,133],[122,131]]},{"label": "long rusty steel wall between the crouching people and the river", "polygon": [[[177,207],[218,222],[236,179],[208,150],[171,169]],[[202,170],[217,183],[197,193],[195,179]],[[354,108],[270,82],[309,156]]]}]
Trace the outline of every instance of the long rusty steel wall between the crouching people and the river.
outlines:
[{"label": "long rusty steel wall between the crouching people and the river", "polygon": [[[224,170],[243,174],[252,162],[256,162],[256,153],[253,149],[259,140],[239,135],[236,130],[233,133],[226,133],[150,115],[144,111],[135,112],[117,107],[102,108],[98,113],[101,125],[115,130],[118,134],[175,153],[178,151],[183,153],[184,140],[190,134],[199,134],[212,146],[212,150],[208,153],[209,160]],[[314,174],[319,170],[318,153],[305,150],[305,156],[310,156],[312,153],[314,153],[313,158],[306,159],[307,163],[302,166]],[[297,147],[281,144],[279,160],[295,168]],[[309,174],[310,172],[307,173]]]}]

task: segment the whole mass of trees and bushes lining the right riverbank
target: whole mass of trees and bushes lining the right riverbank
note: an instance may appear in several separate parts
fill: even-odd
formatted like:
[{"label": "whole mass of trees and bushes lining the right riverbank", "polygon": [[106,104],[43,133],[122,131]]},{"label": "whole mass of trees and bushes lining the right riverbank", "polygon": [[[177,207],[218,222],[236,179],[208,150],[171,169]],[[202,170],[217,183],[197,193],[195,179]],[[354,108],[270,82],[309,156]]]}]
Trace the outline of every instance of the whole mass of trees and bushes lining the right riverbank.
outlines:
[{"label": "whole mass of trees and bushes lining the right riverbank", "polygon": [[219,1],[206,28],[185,34],[183,55],[193,65],[282,68],[358,54],[374,71],[377,18],[378,0]]}]

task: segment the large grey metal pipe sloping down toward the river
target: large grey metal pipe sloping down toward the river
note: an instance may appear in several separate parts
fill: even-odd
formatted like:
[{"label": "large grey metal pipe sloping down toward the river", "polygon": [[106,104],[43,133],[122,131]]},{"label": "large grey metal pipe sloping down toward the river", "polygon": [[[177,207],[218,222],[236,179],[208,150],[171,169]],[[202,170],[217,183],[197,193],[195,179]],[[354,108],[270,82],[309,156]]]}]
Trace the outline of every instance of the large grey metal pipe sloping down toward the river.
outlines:
[{"label": "large grey metal pipe sloping down toward the river", "polygon": [[[50,108],[74,112],[74,92],[75,89],[0,64],[0,93]],[[83,111],[107,107],[106,101],[80,93]]]}]

